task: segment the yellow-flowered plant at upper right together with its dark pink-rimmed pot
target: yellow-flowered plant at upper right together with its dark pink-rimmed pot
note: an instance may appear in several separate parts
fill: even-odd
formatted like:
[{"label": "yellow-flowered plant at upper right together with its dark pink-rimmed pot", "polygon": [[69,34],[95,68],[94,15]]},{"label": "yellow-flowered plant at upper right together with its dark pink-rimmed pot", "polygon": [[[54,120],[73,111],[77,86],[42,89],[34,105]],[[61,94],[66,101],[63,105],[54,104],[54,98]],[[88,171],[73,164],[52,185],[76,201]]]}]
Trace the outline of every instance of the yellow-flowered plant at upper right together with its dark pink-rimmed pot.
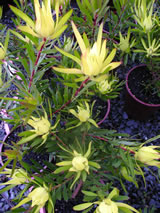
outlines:
[{"label": "yellow-flowered plant at upper right together with its dark pink-rimmed pot", "polygon": [[[136,54],[139,62],[143,63],[133,67],[126,77],[126,111],[139,120],[148,119],[160,109],[160,40],[157,37],[160,25],[159,13],[154,6],[154,0],[135,1],[132,18],[136,24],[132,24],[134,27],[131,29],[134,44],[131,39],[120,37],[126,47],[131,47],[129,54]],[[122,49],[120,44],[119,48],[127,54],[128,49]]]}]

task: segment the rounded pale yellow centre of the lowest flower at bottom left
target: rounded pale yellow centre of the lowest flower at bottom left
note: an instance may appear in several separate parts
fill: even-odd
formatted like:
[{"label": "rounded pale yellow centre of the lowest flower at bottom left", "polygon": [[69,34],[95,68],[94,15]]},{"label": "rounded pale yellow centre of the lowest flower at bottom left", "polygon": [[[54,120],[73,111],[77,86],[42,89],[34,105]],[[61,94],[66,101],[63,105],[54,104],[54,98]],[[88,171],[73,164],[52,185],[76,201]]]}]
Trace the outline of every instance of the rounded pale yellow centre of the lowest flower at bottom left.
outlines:
[{"label": "rounded pale yellow centre of the lowest flower at bottom left", "polygon": [[32,207],[42,208],[49,199],[49,193],[44,187],[38,187],[29,193],[28,198],[32,200]]}]

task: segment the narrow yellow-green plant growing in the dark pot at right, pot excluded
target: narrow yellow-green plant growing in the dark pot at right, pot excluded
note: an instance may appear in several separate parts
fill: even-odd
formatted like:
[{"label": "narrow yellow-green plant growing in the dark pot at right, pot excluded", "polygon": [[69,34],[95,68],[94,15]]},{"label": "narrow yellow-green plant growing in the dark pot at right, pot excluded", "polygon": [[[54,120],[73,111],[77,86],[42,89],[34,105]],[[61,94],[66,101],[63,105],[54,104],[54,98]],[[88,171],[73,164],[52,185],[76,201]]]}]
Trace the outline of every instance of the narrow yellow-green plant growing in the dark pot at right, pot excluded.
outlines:
[{"label": "narrow yellow-green plant growing in the dark pot at right, pot excluded", "polygon": [[147,64],[152,75],[150,82],[146,82],[146,85],[148,85],[146,87],[152,89],[153,94],[156,93],[160,96],[160,40],[157,37],[160,24],[158,11],[154,9],[154,5],[155,0],[138,0],[135,2],[133,18],[137,22],[137,28],[134,30],[137,45],[134,52],[138,53],[142,62]]}]

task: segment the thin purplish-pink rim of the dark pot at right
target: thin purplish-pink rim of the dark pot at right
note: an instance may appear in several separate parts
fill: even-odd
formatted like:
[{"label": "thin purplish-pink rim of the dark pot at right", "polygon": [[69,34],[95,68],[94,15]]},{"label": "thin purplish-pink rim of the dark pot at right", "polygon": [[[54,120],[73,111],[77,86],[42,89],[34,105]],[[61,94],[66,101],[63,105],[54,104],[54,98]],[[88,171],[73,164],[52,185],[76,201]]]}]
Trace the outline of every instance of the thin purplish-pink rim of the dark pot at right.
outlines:
[{"label": "thin purplish-pink rim of the dark pot at right", "polygon": [[134,67],[132,67],[128,73],[127,73],[127,76],[126,76],[126,89],[127,89],[127,92],[130,94],[130,96],[136,100],[137,102],[139,102],[140,104],[142,105],[145,105],[145,106],[148,106],[148,107],[160,107],[160,104],[149,104],[149,103],[146,103],[146,102],[143,102],[141,101],[140,99],[136,98],[136,96],[131,92],[130,88],[129,88],[129,85],[128,85],[128,78],[129,78],[129,75],[130,73],[135,70],[136,68],[139,68],[139,67],[144,67],[144,66],[147,66],[146,64],[139,64],[139,65],[136,65]]}]

